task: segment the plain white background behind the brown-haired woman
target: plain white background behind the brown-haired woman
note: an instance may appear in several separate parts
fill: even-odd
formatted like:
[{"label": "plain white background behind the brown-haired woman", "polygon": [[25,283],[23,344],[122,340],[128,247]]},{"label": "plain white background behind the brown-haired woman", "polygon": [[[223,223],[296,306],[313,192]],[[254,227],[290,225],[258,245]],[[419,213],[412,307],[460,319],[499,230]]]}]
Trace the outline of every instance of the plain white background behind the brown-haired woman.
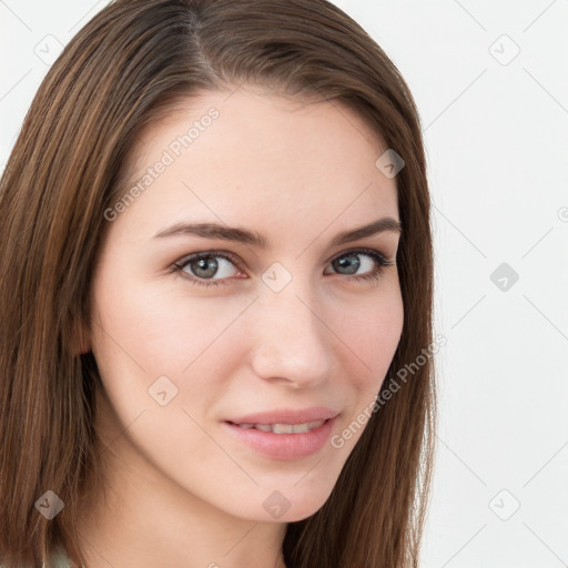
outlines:
[{"label": "plain white background behind the brown-haired woman", "polygon": [[[106,3],[0,0],[0,168]],[[405,77],[428,155],[447,344],[423,567],[568,566],[568,1],[335,3]]]}]

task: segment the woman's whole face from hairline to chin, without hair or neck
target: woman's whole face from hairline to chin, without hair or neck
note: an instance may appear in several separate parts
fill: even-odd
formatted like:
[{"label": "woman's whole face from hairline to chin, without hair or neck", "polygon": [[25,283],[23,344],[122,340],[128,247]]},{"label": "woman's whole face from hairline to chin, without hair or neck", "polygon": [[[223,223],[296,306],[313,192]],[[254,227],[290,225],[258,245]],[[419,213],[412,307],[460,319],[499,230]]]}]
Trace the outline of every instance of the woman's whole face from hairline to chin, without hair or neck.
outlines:
[{"label": "woman's whole face from hairline to chin, without hair or neck", "polygon": [[323,506],[403,328],[381,262],[398,232],[345,236],[399,221],[386,150],[345,106],[243,89],[143,132],[105,213],[88,332],[128,475],[252,520]]}]

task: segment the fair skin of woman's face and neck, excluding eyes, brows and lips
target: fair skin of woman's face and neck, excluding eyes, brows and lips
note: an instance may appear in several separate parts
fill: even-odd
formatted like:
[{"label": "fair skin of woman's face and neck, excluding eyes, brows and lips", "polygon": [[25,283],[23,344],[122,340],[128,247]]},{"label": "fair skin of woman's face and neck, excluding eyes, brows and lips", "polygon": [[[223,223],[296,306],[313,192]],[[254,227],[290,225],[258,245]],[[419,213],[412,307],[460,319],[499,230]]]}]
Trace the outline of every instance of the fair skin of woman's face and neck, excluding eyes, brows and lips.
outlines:
[{"label": "fair skin of woman's face and neck, excluding eyes, brows and lips", "polygon": [[[104,385],[95,427],[105,499],[92,499],[79,527],[89,568],[282,568],[286,523],[324,505],[363,428],[342,448],[280,460],[221,422],[328,406],[341,434],[381,389],[400,338],[396,264],[357,282],[376,261],[356,256],[355,274],[332,263],[357,246],[396,261],[399,240],[383,232],[328,245],[342,231],[399,220],[396,179],[375,166],[386,148],[354,111],[252,88],[205,93],[143,131],[130,182],[211,106],[220,116],[108,223],[100,245],[82,345]],[[272,246],[153,237],[182,221],[256,231]],[[239,260],[214,257],[210,280],[221,285],[192,284],[203,274],[195,264],[171,271],[209,251]],[[262,280],[275,262],[292,277],[280,292]],[[149,394],[160,376],[178,388],[165,406]],[[275,490],[290,503],[277,519],[263,507]]]}]

